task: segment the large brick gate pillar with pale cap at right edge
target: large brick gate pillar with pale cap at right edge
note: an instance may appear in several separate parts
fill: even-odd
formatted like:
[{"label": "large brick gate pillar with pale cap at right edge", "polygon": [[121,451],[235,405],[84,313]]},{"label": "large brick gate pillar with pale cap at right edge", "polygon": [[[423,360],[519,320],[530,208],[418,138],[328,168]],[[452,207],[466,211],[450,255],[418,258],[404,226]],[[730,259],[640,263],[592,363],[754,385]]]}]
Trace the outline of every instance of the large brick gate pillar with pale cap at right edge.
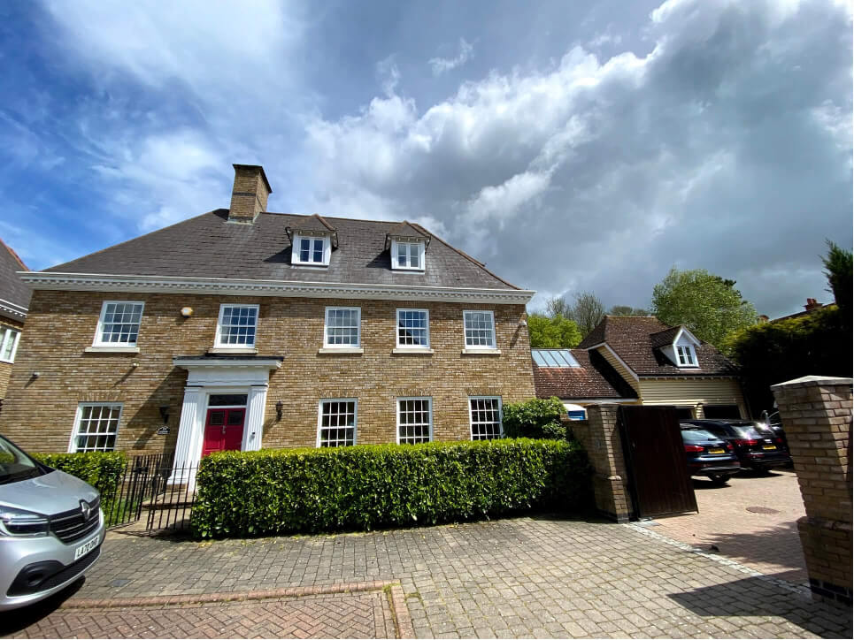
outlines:
[{"label": "large brick gate pillar with pale cap at right edge", "polygon": [[771,387],[806,515],[797,521],[816,599],[851,605],[851,378],[807,376]]}]

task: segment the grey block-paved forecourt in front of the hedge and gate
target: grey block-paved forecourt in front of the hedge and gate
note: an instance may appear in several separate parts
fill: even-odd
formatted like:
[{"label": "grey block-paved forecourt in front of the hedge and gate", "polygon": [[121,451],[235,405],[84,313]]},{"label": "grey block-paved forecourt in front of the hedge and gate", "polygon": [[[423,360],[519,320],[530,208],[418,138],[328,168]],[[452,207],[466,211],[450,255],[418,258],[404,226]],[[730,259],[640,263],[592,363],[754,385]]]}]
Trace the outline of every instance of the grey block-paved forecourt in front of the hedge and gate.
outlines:
[{"label": "grey block-paved forecourt in front of the hedge and gate", "polygon": [[[691,551],[656,529],[542,517],[201,544],[113,534],[86,583],[44,619],[50,631],[30,625],[19,633],[71,635],[69,620],[96,613],[97,628],[86,628],[93,636],[182,635],[189,627],[179,629],[176,621],[184,615],[206,625],[193,626],[188,635],[230,635],[214,623],[219,614],[223,629],[265,615],[266,624],[281,626],[275,632],[267,626],[262,635],[297,636],[286,623],[270,622],[287,616],[281,598],[154,610],[73,607],[93,598],[204,599],[218,592],[323,590],[379,580],[400,583],[419,637],[850,637],[850,611],[814,603],[803,589]],[[364,600],[371,592],[342,594],[338,601],[356,596]],[[246,606],[260,613],[246,613]],[[367,608],[362,601],[353,606]],[[372,633],[365,630],[368,622],[341,630],[336,607],[326,610],[330,628],[342,635],[392,635],[377,613]],[[136,616],[136,626],[128,615]],[[143,629],[146,616],[159,621],[158,630]]]}]

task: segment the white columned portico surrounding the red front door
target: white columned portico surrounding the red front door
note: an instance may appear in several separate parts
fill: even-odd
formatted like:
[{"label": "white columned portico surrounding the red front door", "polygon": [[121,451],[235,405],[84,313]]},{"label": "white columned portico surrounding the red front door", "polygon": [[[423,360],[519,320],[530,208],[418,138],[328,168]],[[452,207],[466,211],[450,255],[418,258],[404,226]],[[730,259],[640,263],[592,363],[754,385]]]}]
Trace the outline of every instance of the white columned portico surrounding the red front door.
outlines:
[{"label": "white columned portico surrounding the red front door", "polygon": [[[188,482],[190,478],[186,469],[198,465],[203,445],[208,451],[212,448],[240,451],[261,448],[270,371],[281,367],[280,357],[187,356],[174,358],[173,364],[188,370],[188,377],[173,473],[169,478],[171,484]],[[221,401],[223,399],[224,402]],[[223,404],[227,406],[220,409]],[[218,447],[215,442],[211,444],[210,438],[206,439],[206,433],[210,431],[219,435],[219,425],[223,439]],[[227,430],[228,438],[231,438],[229,441],[226,440]],[[222,446],[222,443],[226,445]]]}]

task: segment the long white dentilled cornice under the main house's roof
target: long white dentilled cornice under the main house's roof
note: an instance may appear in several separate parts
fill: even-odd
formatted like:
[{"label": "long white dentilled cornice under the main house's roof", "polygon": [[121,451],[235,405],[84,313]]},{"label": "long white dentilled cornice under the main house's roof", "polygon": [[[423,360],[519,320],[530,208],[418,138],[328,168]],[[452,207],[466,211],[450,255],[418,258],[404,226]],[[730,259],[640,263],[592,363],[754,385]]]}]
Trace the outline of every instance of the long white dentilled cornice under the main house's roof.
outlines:
[{"label": "long white dentilled cornice under the main house's roof", "polygon": [[527,304],[535,291],[450,286],[366,285],[293,280],[124,276],[100,273],[19,271],[34,289],[68,291],[123,291],[138,293],[199,293],[202,295],[258,295],[281,298],[344,298],[361,300],[425,300]]}]

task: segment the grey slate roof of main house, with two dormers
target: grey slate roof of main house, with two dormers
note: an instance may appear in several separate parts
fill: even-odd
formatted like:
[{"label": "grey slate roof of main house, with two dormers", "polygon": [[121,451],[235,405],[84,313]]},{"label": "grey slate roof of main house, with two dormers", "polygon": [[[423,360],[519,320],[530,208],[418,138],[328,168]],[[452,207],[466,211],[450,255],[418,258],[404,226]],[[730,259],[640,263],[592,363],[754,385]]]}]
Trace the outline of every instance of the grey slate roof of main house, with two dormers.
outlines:
[{"label": "grey slate roof of main house, with two dormers", "polygon": [[337,232],[338,248],[328,267],[305,267],[291,264],[286,229],[315,225],[318,217],[261,213],[252,225],[228,223],[227,217],[227,210],[214,210],[47,271],[519,289],[419,225],[412,226],[435,240],[423,273],[391,270],[385,240],[396,222],[325,217]]}]

